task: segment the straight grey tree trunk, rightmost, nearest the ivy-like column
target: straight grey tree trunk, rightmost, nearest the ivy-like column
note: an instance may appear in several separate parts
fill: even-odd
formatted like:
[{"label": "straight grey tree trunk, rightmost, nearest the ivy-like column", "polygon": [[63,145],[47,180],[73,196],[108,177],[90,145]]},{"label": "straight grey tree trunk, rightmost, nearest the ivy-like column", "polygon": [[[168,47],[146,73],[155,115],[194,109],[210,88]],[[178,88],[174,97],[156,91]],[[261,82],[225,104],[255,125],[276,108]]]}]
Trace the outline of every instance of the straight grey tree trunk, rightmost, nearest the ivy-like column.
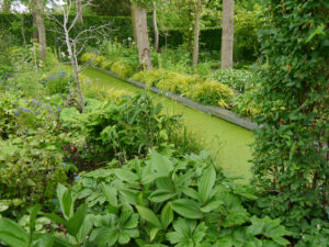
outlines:
[{"label": "straight grey tree trunk, rightmost, nearest the ivy-like column", "polygon": [[234,0],[223,0],[222,69],[232,68]]}]

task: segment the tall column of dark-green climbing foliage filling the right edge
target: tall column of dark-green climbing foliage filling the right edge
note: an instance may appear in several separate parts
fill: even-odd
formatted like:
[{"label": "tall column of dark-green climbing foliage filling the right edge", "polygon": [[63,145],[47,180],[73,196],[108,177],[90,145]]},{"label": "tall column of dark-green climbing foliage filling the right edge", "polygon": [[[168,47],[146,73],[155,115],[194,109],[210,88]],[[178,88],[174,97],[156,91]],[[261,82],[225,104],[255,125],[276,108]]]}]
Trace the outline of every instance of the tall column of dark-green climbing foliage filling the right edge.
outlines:
[{"label": "tall column of dark-green climbing foliage filling the right edge", "polygon": [[[260,33],[265,65],[254,99],[260,105],[256,120],[264,126],[256,136],[253,182],[263,192],[261,213],[281,216],[297,246],[310,243],[303,237],[303,225],[314,218],[328,223],[326,7],[314,0],[266,1],[266,29]],[[326,231],[308,234],[308,239],[322,235],[318,239],[328,243]]]}]

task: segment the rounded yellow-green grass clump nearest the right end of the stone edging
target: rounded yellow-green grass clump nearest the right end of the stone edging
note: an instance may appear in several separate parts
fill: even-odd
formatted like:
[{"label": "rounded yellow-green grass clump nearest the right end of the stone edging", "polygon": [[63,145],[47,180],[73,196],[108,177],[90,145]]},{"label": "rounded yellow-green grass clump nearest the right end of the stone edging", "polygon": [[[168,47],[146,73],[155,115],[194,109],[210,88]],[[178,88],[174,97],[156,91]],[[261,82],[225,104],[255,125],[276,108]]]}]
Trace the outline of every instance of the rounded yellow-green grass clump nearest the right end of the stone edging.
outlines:
[{"label": "rounded yellow-green grass clump nearest the right end of the stone edging", "polygon": [[234,91],[220,82],[205,81],[191,88],[186,96],[202,104],[229,109]]}]

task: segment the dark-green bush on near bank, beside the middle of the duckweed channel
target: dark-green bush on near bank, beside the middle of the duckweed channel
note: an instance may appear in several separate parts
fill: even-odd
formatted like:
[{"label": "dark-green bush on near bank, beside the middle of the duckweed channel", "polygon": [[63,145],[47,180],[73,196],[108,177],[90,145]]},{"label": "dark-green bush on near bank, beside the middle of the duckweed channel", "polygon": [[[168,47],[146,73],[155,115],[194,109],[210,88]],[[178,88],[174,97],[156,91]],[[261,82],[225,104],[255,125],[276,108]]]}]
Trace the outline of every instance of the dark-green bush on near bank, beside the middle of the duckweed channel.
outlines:
[{"label": "dark-green bush on near bank, beside the middle of the duckweed channel", "polygon": [[[71,131],[81,132],[86,144],[80,144],[80,149],[93,162],[112,159],[124,162],[136,156],[144,157],[151,147],[161,150],[168,144],[174,144],[173,141],[184,138],[179,116],[162,114],[162,106],[154,104],[146,94],[125,96],[115,102],[99,102],[90,110],[87,105],[84,114],[73,113],[70,109],[61,112],[65,124]],[[178,147],[181,150],[195,150],[188,142],[180,144],[184,144]]]}]

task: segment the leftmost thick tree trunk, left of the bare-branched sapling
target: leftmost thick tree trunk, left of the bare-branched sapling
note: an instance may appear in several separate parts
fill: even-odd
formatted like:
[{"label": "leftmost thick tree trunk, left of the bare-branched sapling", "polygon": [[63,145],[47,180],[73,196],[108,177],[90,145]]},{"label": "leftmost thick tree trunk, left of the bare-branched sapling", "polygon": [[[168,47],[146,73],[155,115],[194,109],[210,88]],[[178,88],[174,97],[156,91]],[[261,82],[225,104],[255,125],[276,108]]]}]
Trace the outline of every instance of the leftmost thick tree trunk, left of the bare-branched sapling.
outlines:
[{"label": "leftmost thick tree trunk, left of the bare-branched sapling", "polygon": [[39,57],[42,60],[45,60],[46,58],[46,29],[45,29],[45,22],[43,18],[44,12],[44,1],[37,0],[36,1],[36,23],[37,23],[37,33],[38,33],[38,44],[39,44]]}]

